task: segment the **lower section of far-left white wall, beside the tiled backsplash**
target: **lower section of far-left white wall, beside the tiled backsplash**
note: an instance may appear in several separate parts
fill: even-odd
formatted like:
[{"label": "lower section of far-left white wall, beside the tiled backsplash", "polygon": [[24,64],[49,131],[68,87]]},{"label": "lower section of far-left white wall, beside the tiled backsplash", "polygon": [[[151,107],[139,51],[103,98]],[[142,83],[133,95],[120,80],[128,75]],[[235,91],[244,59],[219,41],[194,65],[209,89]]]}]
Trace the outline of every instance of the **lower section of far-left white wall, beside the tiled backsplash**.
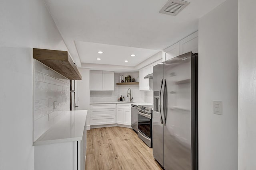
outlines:
[{"label": "lower section of far-left white wall, beside the tiled backsplash", "polygon": [[33,170],[32,49],[0,51],[0,170]]}]

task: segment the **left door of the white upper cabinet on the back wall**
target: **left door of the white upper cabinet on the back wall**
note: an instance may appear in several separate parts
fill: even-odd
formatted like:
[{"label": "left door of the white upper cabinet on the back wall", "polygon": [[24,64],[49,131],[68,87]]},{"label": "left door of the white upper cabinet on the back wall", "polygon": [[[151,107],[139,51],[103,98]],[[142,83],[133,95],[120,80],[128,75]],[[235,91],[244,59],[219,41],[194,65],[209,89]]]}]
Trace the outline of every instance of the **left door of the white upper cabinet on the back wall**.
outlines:
[{"label": "left door of the white upper cabinet on the back wall", "polygon": [[90,90],[102,90],[102,71],[90,70]]}]

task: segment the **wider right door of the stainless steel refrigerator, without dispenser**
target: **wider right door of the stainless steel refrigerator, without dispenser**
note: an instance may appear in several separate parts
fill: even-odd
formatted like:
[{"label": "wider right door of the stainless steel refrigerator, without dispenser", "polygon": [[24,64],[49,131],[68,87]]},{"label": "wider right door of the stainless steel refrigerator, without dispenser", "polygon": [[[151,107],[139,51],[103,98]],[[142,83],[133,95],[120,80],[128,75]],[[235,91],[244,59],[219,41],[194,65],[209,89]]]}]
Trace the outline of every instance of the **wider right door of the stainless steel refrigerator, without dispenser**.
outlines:
[{"label": "wider right door of the stainless steel refrigerator, without dispenser", "polygon": [[191,170],[191,54],[164,62],[164,168]]}]

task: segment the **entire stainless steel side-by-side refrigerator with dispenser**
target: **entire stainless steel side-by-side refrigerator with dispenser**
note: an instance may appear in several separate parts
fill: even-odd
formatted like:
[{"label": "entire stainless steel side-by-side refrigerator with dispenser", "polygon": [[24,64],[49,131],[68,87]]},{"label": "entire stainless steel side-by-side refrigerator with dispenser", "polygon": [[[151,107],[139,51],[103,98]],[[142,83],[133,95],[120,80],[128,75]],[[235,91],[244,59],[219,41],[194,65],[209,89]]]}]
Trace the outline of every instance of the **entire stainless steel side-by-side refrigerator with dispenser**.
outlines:
[{"label": "entire stainless steel side-by-side refrigerator with dispenser", "polygon": [[153,67],[153,155],[165,170],[198,170],[198,54]]}]

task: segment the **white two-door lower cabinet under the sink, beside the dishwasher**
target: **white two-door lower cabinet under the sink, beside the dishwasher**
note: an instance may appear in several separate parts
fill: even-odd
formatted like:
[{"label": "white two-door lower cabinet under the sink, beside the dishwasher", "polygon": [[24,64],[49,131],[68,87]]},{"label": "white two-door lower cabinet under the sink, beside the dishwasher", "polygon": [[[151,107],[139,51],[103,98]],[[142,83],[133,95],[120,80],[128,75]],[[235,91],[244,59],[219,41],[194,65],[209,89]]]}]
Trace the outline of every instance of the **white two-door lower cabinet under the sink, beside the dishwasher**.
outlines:
[{"label": "white two-door lower cabinet under the sink, beside the dishwasher", "polygon": [[131,125],[131,105],[116,104],[116,123],[121,125]]}]

